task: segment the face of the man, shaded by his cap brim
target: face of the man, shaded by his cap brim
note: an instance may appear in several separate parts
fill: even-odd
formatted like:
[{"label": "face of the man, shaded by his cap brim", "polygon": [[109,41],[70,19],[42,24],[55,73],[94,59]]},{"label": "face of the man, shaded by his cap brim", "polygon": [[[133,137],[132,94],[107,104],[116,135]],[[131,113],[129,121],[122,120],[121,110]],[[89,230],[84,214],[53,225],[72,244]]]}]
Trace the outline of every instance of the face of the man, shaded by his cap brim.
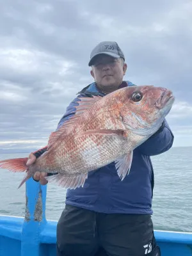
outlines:
[{"label": "face of the man, shaded by his cap brim", "polygon": [[91,74],[102,90],[116,90],[122,83],[127,65],[122,60],[100,54],[95,58]]}]

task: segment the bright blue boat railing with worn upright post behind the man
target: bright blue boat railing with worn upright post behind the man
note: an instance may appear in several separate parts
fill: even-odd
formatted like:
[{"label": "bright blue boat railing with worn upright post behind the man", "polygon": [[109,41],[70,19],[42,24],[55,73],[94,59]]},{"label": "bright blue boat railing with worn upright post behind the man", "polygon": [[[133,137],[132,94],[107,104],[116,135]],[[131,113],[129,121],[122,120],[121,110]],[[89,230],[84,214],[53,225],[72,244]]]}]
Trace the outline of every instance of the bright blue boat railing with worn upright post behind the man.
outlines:
[{"label": "bright blue boat railing with worn upright post behind the man", "polygon": [[[46,219],[46,194],[47,185],[31,178],[25,216],[0,216],[0,256],[56,256],[57,221]],[[162,256],[192,256],[192,233],[155,230],[155,235]]]}]

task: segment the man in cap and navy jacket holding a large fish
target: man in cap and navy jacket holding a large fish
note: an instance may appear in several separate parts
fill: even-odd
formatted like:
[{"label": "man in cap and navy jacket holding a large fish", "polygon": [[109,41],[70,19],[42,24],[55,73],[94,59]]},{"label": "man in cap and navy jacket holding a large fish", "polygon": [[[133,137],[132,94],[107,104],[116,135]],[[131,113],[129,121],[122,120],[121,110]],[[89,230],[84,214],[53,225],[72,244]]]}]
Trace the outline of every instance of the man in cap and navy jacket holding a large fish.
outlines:
[{"label": "man in cap and navy jacket holding a large fish", "polygon": [[[92,51],[89,66],[95,82],[79,95],[92,97],[132,86],[123,81],[127,70],[124,53],[116,42],[100,42]],[[74,115],[77,98],[67,108],[60,125]],[[160,255],[151,220],[154,172],[150,156],[172,147],[173,134],[166,120],[159,131],[134,150],[131,174],[120,181],[111,163],[90,172],[83,188],[68,189],[66,206],[58,221],[58,256]],[[29,155],[29,163],[46,148]],[[46,184],[46,173],[33,179]],[[48,173],[49,175],[49,173]]]}]

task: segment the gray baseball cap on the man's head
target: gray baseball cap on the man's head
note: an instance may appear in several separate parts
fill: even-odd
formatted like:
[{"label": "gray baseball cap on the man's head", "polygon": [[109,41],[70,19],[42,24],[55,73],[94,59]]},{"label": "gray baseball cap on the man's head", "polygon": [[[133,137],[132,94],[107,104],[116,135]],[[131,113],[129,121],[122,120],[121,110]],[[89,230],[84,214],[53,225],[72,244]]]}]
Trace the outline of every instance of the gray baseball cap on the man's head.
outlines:
[{"label": "gray baseball cap on the man's head", "polygon": [[125,60],[124,53],[116,42],[104,41],[96,45],[91,52],[90,62],[88,63],[89,66],[93,65],[93,59],[99,54],[106,54],[114,58],[123,58]]}]

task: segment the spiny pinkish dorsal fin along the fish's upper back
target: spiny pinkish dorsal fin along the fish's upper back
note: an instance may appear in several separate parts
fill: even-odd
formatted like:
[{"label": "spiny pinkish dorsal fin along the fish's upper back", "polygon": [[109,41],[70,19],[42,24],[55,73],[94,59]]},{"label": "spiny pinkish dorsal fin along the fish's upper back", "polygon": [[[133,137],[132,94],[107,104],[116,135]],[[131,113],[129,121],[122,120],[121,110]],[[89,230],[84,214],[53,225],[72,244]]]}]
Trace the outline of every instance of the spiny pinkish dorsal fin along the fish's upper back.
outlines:
[{"label": "spiny pinkish dorsal fin along the fish's upper back", "polygon": [[76,122],[81,114],[89,109],[95,102],[100,100],[102,96],[92,96],[92,97],[78,97],[77,99],[81,100],[78,101],[79,106],[74,106],[76,108],[76,113],[73,115],[69,120],[64,122],[61,127],[58,129],[56,132],[51,132],[51,135],[49,136],[49,141],[47,144],[47,150],[51,148],[51,146],[58,140],[61,134],[65,133],[67,134],[68,132],[71,131],[72,125],[74,122]]}]

